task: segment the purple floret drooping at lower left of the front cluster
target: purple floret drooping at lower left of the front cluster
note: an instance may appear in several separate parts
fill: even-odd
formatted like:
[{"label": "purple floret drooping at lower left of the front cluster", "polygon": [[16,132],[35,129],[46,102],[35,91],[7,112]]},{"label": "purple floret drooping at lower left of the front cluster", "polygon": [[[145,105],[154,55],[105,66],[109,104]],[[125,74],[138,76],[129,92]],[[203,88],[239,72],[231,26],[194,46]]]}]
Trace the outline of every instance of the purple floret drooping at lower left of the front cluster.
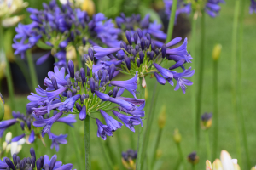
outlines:
[{"label": "purple floret drooping at lower left of the front cluster", "polygon": [[61,116],[63,115],[63,112],[60,111],[55,116],[50,117],[49,119],[44,119],[43,116],[36,116],[33,114],[36,121],[33,122],[33,125],[35,127],[44,127],[42,130],[42,136],[44,137],[45,133],[48,133],[49,139],[52,139],[50,128],[54,122],[56,122]]}]

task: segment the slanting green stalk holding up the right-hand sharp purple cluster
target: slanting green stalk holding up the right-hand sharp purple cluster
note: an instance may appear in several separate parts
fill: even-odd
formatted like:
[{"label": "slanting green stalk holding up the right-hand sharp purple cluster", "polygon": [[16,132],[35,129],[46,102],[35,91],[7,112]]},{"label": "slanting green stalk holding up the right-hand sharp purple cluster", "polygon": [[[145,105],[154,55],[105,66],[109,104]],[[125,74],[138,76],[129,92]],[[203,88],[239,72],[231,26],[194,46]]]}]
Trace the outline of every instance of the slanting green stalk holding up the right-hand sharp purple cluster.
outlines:
[{"label": "slanting green stalk holding up the right-hand sharp purple cluster", "polygon": [[[151,99],[151,104],[150,104],[150,109],[148,111],[148,122],[147,122],[147,127],[145,130],[145,134],[143,137],[143,147],[141,151],[141,158],[140,158],[140,162],[141,163],[141,168],[143,168],[143,161],[144,158],[146,156],[146,152],[147,152],[147,148],[148,148],[148,140],[149,140],[149,135],[150,135],[150,131],[151,131],[151,127],[152,127],[152,123],[154,120],[154,108],[156,105],[156,100],[157,100],[157,96],[158,96],[158,82],[155,82],[154,84],[154,91],[153,91],[153,95],[152,95],[152,99]],[[138,160],[137,160],[138,161]]]}]

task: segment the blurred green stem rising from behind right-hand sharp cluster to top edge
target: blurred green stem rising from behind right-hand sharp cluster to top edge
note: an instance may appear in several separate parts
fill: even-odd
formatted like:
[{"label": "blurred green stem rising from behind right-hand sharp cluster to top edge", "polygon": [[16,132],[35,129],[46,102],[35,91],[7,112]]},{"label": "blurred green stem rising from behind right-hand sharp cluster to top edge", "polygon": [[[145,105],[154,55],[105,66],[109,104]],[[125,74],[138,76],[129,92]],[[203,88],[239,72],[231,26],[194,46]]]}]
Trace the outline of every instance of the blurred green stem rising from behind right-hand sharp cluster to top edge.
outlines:
[{"label": "blurred green stem rising from behind right-hand sharp cluster to top edge", "polygon": [[170,20],[168,25],[168,31],[167,31],[167,37],[166,37],[166,43],[170,42],[172,39],[172,32],[175,22],[175,16],[176,16],[176,9],[177,9],[177,0],[172,1],[172,12],[170,14]]}]

